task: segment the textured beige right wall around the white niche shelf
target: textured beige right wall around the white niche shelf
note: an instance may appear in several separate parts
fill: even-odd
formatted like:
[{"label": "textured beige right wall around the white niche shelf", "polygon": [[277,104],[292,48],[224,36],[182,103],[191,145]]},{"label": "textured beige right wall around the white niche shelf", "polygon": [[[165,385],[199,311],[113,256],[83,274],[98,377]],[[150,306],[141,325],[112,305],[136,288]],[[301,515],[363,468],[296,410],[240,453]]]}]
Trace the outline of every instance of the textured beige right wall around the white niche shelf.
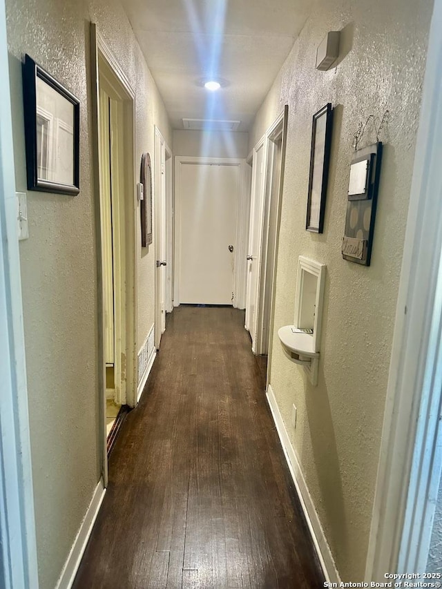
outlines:
[{"label": "textured beige right wall around the white niche shelf", "polygon": [[[307,21],[250,133],[256,143],[289,104],[270,382],[344,580],[365,570],[394,313],[432,1],[322,0]],[[329,30],[343,30],[338,64],[314,68]],[[325,229],[305,231],[311,116],[335,107]],[[390,111],[371,267],[342,259],[353,135]],[[375,142],[372,126],[361,146]],[[298,255],[327,264],[319,383],[282,353],[277,330],[294,321]],[[296,430],[291,405],[298,408]]]}]

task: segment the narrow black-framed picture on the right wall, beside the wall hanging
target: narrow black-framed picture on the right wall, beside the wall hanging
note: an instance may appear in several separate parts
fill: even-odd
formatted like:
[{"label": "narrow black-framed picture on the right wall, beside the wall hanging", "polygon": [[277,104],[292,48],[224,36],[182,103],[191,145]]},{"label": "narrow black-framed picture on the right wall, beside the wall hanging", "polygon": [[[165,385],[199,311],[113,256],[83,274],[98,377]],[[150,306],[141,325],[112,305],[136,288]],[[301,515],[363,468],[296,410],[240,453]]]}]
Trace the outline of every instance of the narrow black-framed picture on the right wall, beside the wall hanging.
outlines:
[{"label": "narrow black-framed picture on the right wall, beside the wall hanging", "polygon": [[333,108],[329,102],[313,115],[311,129],[309,193],[305,229],[323,233],[325,197],[332,144]]}]

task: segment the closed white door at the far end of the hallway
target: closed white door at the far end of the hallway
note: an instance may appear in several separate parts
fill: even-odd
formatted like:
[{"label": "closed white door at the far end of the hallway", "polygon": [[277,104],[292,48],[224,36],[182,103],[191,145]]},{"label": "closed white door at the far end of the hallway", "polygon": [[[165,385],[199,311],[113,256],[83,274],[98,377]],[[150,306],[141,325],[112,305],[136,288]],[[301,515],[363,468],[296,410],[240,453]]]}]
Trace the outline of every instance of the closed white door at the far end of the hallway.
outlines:
[{"label": "closed white door at the far end of the hallway", "polygon": [[180,302],[233,305],[240,168],[180,168]]}]

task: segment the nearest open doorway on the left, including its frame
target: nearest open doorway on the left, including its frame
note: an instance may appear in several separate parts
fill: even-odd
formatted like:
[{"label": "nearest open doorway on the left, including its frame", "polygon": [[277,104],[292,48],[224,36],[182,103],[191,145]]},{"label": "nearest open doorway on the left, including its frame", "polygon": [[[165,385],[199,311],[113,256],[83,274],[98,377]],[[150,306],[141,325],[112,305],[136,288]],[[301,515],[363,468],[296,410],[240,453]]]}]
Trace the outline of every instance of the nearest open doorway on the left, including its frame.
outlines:
[{"label": "nearest open doorway on the left, including its frame", "polygon": [[91,39],[98,162],[95,182],[103,418],[100,429],[107,472],[107,454],[128,407],[136,403],[134,93],[93,25]]}]

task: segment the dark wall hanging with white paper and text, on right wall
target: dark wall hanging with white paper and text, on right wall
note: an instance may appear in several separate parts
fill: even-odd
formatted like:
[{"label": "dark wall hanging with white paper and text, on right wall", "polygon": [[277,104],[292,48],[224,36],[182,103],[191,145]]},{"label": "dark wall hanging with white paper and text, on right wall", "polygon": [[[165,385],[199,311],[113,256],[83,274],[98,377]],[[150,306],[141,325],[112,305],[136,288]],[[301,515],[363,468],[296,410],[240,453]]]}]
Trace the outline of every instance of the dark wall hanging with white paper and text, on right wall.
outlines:
[{"label": "dark wall hanging with white paper and text, on right wall", "polygon": [[356,151],[350,165],[347,215],[342,254],[345,260],[370,265],[376,218],[382,142]]}]

